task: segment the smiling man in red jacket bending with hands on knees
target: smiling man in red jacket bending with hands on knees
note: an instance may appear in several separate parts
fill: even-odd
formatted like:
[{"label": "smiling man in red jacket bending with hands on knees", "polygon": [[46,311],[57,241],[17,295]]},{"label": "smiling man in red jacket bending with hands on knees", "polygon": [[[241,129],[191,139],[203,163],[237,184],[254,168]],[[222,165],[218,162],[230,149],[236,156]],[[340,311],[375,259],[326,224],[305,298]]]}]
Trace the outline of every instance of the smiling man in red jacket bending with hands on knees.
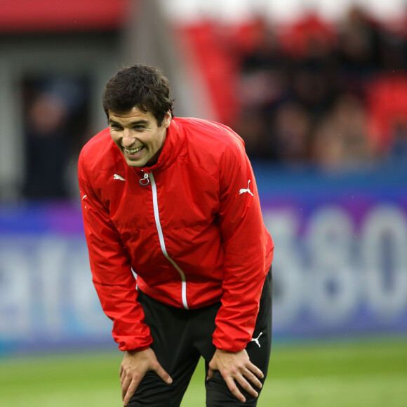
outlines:
[{"label": "smiling man in red jacket bending with hands on knees", "polygon": [[207,406],[255,406],[273,243],[243,141],[173,117],[154,67],[121,69],[102,101],[109,128],[82,149],[79,185],[93,283],[124,351],[124,405],[179,406],[203,356]]}]

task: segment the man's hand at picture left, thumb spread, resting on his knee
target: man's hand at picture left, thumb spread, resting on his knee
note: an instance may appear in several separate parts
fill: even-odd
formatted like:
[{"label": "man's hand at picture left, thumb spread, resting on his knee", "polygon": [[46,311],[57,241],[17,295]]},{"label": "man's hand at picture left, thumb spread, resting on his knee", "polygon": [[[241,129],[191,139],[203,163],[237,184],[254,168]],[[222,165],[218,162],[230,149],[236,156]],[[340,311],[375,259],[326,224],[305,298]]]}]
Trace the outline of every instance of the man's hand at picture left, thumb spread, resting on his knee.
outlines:
[{"label": "man's hand at picture left, thumb spread, resting on his knee", "polygon": [[151,348],[140,352],[124,352],[124,358],[120,366],[121,398],[124,406],[127,406],[147,371],[154,371],[168,384],[173,382],[170,375],[164,371],[164,368],[157,361],[156,354]]}]

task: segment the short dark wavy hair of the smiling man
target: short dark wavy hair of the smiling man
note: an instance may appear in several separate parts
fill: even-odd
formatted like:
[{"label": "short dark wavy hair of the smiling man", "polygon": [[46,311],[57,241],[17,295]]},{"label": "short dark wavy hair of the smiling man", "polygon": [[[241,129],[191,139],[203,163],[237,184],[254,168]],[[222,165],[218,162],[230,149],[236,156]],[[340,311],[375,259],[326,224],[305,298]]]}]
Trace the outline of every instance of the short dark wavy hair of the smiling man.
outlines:
[{"label": "short dark wavy hair of the smiling man", "polygon": [[126,67],[112,76],[103,91],[102,103],[107,119],[109,111],[125,113],[133,107],[151,112],[158,126],[168,110],[174,116],[168,79],[160,69],[148,65]]}]

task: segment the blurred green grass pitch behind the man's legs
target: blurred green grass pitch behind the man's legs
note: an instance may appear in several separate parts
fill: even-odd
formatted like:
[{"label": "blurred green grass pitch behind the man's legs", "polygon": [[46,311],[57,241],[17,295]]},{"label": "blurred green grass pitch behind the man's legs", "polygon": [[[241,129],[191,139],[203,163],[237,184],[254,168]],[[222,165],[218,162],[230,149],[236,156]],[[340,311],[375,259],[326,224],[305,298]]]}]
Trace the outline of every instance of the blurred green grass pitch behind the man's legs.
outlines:
[{"label": "blurred green grass pitch behind the man's legs", "polygon": [[[121,352],[3,357],[0,406],[121,406]],[[273,346],[259,407],[405,407],[407,338]],[[204,407],[199,366],[182,407]]]}]

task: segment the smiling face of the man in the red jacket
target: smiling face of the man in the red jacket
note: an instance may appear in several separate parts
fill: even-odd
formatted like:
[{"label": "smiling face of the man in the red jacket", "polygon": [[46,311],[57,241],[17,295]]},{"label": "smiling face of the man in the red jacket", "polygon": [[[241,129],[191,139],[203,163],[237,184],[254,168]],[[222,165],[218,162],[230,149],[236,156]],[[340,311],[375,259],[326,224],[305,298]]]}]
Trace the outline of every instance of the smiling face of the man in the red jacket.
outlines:
[{"label": "smiling face of the man in the red jacket", "polygon": [[133,107],[126,113],[109,110],[110,135],[131,167],[151,166],[156,163],[170,124],[169,111],[161,126],[158,126],[156,118],[150,112],[143,113],[138,107]]}]

